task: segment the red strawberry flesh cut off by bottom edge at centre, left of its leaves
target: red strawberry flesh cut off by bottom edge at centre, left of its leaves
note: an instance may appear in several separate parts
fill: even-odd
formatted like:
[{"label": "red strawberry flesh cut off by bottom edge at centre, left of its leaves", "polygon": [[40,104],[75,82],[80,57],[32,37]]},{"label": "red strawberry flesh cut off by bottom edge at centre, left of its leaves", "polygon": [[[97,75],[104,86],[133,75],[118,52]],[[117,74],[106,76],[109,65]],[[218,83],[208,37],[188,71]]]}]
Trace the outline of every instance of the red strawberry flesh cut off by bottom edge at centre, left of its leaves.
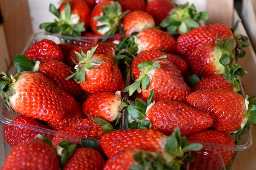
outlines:
[{"label": "red strawberry flesh cut off by bottom edge at centre, left of its leaves", "polygon": [[138,148],[125,148],[114,154],[104,165],[104,170],[126,170],[135,163],[133,156],[141,151]]}]

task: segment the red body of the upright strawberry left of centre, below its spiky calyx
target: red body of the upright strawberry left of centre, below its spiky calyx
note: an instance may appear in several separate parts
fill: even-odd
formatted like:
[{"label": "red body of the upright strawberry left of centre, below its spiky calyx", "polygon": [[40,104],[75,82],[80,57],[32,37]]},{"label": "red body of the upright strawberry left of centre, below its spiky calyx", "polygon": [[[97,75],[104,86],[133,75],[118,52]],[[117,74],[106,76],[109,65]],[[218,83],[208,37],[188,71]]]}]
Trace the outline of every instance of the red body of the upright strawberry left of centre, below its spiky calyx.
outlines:
[{"label": "red body of the upright strawberry left of centre, below its spiky calyx", "polygon": [[125,82],[114,61],[102,54],[94,54],[93,58],[101,59],[104,63],[95,66],[97,69],[86,69],[86,79],[79,83],[80,86],[89,94],[122,90]]}]

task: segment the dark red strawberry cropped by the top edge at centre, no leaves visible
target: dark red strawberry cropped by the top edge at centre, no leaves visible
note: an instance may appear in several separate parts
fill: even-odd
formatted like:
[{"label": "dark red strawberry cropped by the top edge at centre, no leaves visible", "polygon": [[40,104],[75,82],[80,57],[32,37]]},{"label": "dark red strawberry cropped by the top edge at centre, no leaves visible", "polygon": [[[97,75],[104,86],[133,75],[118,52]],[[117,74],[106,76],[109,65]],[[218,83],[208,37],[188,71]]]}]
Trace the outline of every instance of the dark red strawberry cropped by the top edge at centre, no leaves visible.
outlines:
[{"label": "dark red strawberry cropped by the top edge at centre, no leaves visible", "polygon": [[143,11],[145,8],[145,2],[143,0],[137,0],[137,1],[129,1],[129,0],[117,0],[117,2],[120,3],[122,6],[123,11],[135,11],[140,10]]}]

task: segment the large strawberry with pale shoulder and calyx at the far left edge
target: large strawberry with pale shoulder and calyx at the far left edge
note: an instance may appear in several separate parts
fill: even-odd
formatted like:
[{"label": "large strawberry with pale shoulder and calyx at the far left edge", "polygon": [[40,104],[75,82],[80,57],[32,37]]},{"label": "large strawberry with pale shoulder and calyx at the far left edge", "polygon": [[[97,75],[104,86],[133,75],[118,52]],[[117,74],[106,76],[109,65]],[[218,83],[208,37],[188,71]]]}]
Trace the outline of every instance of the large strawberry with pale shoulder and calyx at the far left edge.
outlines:
[{"label": "large strawberry with pale shoulder and calyx at the far left edge", "polygon": [[0,74],[1,97],[14,111],[43,121],[60,122],[75,100],[40,73]]}]

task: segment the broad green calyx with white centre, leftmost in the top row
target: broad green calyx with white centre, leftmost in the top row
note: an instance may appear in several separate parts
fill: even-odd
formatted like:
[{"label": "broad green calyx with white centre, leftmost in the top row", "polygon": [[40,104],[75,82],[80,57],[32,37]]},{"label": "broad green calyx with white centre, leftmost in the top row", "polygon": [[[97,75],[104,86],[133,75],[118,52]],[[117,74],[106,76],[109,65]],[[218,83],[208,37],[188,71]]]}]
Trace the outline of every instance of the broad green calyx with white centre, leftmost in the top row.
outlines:
[{"label": "broad green calyx with white centre, leftmost in the top row", "polygon": [[44,29],[50,33],[61,33],[64,36],[81,36],[81,32],[85,31],[84,22],[79,22],[79,15],[72,15],[71,6],[66,1],[64,12],[60,14],[57,8],[50,4],[49,11],[55,15],[55,22],[42,23],[40,29]]}]

